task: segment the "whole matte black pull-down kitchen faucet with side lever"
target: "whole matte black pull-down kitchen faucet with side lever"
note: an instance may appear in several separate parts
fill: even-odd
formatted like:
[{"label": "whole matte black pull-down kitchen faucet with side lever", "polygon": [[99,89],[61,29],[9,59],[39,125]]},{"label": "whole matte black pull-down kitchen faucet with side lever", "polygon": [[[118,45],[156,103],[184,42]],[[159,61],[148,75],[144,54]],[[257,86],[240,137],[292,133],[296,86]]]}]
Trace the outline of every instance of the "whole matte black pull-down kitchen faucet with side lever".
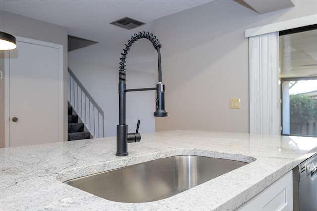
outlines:
[{"label": "whole matte black pull-down kitchen faucet with side lever", "polygon": [[[126,89],[126,80],[125,80],[125,59],[128,51],[132,44],[138,39],[146,38],[151,41],[153,47],[158,52],[158,63],[159,63],[159,84],[154,88],[142,88],[142,89]],[[128,155],[128,143],[139,142],[141,140],[141,135],[138,133],[138,128],[140,122],[138,121],[136,133],[128,133],[128,125],[126,124],[126,93],[132,91],[146,91],[146,90],[156,90],[156,111],[154,116],[156,117],[166,117],[167,112],[165,111],[165,85],[162,84],[162,70],[161,70],[161,56],[160,48],[162,45],[159,40],[156,39],[153,34],[149,32],[138,32],[131,36],[131,40],[128,40],[128,44],[125,44],[122,57],[120,58],[120,71],[119,71],[119,124],[117,125],[117,152],[116,156],[127,156]]]}]

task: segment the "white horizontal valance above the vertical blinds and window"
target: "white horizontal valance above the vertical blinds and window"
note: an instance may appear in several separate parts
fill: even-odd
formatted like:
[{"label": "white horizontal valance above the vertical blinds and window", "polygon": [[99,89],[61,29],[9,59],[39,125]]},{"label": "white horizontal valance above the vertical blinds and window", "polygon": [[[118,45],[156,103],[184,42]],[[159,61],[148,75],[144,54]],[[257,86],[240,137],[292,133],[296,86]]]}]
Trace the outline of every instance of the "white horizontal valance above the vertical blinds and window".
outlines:
[{"label": "white horizontal valance above the vertical blinds and window", "polygon": [[317,24],[317,14],[247,29],[245,31],[245,37],[257,36],[287,29],[294,29],[313,24]]}]

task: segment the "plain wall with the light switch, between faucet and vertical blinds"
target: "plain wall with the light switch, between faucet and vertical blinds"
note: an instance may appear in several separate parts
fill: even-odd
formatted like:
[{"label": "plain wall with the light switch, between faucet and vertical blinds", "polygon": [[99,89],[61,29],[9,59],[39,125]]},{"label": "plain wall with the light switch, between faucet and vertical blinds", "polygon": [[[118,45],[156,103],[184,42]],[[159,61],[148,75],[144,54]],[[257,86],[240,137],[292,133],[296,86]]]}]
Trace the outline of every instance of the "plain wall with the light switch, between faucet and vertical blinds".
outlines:
[{"label": "plain wall with the light switch, between faucet and vertical blinds", "polygon": [[[213,1],[159,18],[167,118],[156,131],[204,129],[249,132],[248,28],[317,13],[317,1],[258,14],[235,1]],[[240,98],[241,109],[229,109]]]}]

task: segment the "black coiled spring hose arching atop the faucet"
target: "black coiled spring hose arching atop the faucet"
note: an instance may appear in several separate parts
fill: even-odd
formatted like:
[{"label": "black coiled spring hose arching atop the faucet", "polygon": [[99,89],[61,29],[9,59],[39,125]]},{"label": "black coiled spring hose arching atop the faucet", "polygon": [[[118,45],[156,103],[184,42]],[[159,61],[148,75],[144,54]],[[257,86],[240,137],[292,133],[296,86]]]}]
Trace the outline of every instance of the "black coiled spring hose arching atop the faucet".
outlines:
[{"label": "black coiled spring hose arching atop the faucet", "polygon": [[141,39],[146,38],[151,41],[154,48],[158,51],[158,63],[159,63],[159,82],[162,82],[162,68],[161,68],[161,57],[160,57],[160,48],[162,45],[160,44],[159,40],[156,38],[156,36],[153,36],[150,32],[138,32],[135,33],[134,36],[131,36],[131,40],[128,40],[128,44],[125,44],[125,48],[123,49],[123,53],[121,53],[122,58],[120,58],[120,72],[119,72],[119,83],[125,83],[125,59],[127,58],[128,51],[130,50],[130,47],[132,44]]}]

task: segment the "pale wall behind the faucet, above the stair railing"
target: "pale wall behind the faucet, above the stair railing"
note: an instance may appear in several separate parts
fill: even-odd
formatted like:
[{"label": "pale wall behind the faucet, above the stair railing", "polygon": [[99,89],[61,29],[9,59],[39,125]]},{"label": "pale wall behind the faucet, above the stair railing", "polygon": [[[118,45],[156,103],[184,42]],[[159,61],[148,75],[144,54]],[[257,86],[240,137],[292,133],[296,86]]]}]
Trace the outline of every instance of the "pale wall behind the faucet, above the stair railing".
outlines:
[{"label": "pale wall behind the faucet, above the stair railing", "polygon": [[[104,111],[105,136],[115,136],[119,123],[119,62],[124,44],[98,43],[68,53],[69,68]],[[126,59],[127,89],[155,87],[154,70],[158,69],[154,67],[155,59],[156,52],[149,40],[133,44]],[[140,133],[154,132],[155,91],[128,92],[126,99],[129,132],[135,131],[138,119]]]}]

